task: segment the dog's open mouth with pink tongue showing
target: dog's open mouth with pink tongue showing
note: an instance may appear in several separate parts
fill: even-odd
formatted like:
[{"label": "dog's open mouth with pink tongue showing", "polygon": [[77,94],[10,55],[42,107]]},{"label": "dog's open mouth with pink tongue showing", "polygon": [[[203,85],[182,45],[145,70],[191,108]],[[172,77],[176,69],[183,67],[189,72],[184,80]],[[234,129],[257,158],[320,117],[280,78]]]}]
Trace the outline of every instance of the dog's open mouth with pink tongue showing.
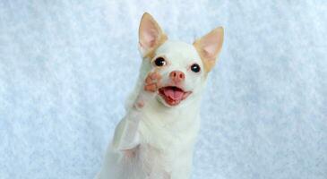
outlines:
[{"label": "dog's open mouth with pink tongue showing", "polygon": [[185,91],[176,86],[166,86],[159,89],[159,95],[169,106],[176,106],[187,98],[192,92]]}]

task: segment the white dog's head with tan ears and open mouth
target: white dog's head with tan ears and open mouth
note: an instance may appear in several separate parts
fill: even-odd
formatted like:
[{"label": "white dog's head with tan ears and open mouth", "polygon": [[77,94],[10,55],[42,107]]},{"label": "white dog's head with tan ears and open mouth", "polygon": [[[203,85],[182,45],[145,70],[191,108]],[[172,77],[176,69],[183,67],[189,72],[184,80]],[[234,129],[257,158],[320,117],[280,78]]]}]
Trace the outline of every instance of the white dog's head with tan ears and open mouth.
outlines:
[{"label": "white dog's head with tan ears and open mouth", "polygon": [[139,29],[140,51],[147,72],[159,72],[157,98],[166,107],[175,107],[200,96],[208,72],[216,62],[223,42],[221,27],[194,43],[170,41],[149,13]]}]

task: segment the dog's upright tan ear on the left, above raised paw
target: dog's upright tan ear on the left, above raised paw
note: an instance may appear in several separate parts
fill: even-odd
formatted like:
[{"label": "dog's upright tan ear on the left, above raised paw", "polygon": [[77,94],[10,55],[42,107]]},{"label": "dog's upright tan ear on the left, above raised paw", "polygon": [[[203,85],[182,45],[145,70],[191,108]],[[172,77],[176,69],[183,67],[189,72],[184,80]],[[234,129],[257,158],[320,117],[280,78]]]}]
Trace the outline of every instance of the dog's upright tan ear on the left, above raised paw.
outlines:
[{"label": "dog's upright tan ear on the left, above raised paw", "polygon": [[150,13],[143,13],[139,27],[139,44],[142,56],[151,53],[167,40],[157,21]]}]

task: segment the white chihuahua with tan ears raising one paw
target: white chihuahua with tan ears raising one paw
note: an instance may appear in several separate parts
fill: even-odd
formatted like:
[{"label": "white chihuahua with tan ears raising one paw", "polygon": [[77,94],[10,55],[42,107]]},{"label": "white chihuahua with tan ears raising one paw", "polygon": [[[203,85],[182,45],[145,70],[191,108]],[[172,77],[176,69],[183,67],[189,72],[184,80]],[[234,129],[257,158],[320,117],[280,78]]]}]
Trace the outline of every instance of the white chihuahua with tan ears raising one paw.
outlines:
[{"label": "white chihuahua with tan ears raising one paw", "polygon": [[222,42],[221,27],[193,45],[170,41],[142,15],[140,76],[97,179],[190,178],[202,90]]}]

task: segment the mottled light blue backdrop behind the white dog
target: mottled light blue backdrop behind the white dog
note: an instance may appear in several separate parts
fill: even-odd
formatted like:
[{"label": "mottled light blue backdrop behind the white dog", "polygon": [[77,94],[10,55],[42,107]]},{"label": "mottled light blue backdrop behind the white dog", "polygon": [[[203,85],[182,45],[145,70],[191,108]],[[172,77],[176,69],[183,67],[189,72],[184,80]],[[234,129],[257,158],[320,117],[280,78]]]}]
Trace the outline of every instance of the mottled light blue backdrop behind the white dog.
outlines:
[{"label": "mottled light blue backdrop behind the white dog", "polygon": [[225,27],[194,179],[327,178],[326,1],[2,0],[1,179],[96,174],[141,64],[144,11],[187,42]]}]

